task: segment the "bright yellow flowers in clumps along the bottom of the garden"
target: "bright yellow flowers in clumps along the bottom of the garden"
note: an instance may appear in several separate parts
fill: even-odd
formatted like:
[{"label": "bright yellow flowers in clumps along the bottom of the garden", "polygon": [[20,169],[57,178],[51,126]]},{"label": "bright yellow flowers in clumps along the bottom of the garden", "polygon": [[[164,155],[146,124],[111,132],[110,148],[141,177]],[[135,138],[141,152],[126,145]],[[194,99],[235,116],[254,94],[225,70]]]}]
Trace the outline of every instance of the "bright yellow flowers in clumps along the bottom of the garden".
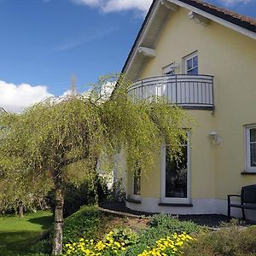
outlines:
[{"label": "bright yellow flowers in clumps along the bottom of the garden", "polygon": [[[189,241],[194,239],[182,233],[172,234],[172,236],[166,236],[156,241],[153,247],[147,247],[147,249],[140,253],[135,253],[133,256],[153,256],[153,255],[180,255],[183,253],[183,246]],[[100,241],[79,239],[77,242],[68,243],[65,245],[67,248],[66,253],[63,256],[113,256],[113,255],[127,255],[127,249],[132,244],[137,243],[137,235],[130,229],[116,229],[108,233],[107,236]]]}]

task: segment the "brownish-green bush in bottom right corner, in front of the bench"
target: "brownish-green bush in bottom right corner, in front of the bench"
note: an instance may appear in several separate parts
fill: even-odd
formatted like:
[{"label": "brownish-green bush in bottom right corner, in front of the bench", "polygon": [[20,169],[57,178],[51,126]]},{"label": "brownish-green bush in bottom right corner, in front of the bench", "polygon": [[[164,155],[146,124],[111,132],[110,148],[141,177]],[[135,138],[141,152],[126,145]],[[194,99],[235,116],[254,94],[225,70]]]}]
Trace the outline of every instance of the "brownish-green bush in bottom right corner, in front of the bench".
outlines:
[{"label": "brownish-green bush in bottom right corner, in front of the bench", "polygon": [[225,226],[217,231],[207,231],[184,247],[185,255],[256,255],[256,227]]}]

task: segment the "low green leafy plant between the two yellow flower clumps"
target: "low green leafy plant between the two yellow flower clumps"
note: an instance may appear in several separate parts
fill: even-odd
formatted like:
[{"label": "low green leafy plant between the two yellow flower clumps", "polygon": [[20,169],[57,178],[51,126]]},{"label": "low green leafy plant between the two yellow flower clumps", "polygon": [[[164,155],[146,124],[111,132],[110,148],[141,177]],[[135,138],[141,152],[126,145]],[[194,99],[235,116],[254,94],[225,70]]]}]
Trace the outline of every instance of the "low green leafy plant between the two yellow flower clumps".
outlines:
[{"label": "low green leafy plant between the two yellow flower clumps", "polygon": [[153,247],[155,241],[166,236],[172,236],[175,232],[177,234],[182,234],[183,232],[190,234],[197,233],[200,230],[201,227],[193,222],[181,222],[176,218],[172,218],[170,214],[155,214],[149,218],[148,228],[138,233],[137,244],[129,247],[125,255],[137,255],[148,247]]}]

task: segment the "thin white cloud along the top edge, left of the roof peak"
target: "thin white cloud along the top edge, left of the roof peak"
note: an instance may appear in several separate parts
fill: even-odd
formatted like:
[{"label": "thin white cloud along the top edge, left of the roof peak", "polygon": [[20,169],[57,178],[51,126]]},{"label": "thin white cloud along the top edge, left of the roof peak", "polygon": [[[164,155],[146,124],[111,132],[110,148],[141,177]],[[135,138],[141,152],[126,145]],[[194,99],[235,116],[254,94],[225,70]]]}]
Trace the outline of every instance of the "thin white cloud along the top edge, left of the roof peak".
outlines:
[{"label": "thin white cloud along the top edge, left of the roof peak", "polygon": [[152,0],[72,0],[73,3],[97,7],[103,12],[137,9],[146,12]]}]

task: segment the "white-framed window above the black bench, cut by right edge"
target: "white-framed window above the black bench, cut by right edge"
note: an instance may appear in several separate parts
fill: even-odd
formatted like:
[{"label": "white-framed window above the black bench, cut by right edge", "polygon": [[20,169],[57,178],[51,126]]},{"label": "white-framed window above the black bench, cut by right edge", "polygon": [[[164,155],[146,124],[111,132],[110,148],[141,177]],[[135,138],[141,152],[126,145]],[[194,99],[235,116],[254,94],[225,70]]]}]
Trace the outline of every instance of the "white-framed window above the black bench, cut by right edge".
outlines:
[{"label": "white-framed window above the black bench, cut by right edge", "polygon": [[246,127],[246,172],[256,172],[256,125]]}]

